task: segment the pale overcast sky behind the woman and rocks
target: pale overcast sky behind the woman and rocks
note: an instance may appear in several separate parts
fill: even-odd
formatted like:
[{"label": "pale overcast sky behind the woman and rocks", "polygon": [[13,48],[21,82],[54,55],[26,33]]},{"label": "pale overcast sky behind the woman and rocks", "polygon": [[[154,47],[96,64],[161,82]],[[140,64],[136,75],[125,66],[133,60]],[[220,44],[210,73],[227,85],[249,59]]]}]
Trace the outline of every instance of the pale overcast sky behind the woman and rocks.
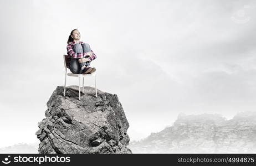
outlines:
[{"label": "pale overcast sky behind the woman and rocks", "polygon": [[[117,94],[133,140],[179,113],[232,118],[256,106],[256,1],[0,1],[0,147],[39,142],[73,29],[97,55],[99,90]],[[68,85],[78,80],[68,77]],[[94,79],[86,82],[94,86]],[[3,134],[4,133],[4,134]]]}]

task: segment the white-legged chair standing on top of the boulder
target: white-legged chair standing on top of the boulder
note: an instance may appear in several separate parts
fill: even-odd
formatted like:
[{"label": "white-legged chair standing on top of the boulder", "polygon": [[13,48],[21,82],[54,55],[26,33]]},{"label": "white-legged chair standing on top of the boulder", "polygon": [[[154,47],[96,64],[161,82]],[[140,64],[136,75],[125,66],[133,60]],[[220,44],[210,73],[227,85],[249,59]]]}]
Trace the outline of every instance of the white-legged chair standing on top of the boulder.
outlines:
[{"label": "white-legged chair standing on top of the boulder", "polygon": [[72,76],[72,77],[78,77],[78,86],[79,86],[79,100],[81,99],[81,88],[80,88],[80,78],[83,77],[83,93],[84,93],[84,77],[91,77],[94,76],[94,85],[95,85],[95,96],[97,97],[97,89],[96,89],[96,71],[94,71],[91,74],[74,74],[72,72],[67,73],[67,69],[70,69],[70,60],[71,57],[68,55],[63,55],[64,58],[64,67],[65,67],[65,85],[64,85],[64,96],[65,96],[65,91],[66,91],[66,76]]}]

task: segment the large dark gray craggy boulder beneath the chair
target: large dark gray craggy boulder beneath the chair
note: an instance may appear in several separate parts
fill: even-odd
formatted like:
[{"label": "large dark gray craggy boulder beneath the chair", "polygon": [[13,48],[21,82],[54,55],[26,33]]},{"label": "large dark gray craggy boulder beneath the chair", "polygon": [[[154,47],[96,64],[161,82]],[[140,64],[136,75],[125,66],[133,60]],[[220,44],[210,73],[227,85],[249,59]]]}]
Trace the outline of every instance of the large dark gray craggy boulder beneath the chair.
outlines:
[{"label": "large dark gray craggy boulder beneath the chair", "polygon": [[49,153],[131,153],[126,120],[117,95],[84,87],[78,100],[78,86],[58,86],[47,102],[45,118],[35,133],[38,152]]}]

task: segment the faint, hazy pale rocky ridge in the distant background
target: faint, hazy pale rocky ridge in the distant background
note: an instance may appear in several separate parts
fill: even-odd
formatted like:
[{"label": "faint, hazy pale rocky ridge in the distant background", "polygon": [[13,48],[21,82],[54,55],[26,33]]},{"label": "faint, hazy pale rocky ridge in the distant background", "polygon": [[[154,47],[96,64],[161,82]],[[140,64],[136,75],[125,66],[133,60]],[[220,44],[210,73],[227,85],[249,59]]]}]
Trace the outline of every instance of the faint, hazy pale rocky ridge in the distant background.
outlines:
[{"label": "faint, hazy pale rocky ridge in the distant background", "polygon": [[256,112],[179,115],[171,127],[128,146],[133,153],[256,153]]}]

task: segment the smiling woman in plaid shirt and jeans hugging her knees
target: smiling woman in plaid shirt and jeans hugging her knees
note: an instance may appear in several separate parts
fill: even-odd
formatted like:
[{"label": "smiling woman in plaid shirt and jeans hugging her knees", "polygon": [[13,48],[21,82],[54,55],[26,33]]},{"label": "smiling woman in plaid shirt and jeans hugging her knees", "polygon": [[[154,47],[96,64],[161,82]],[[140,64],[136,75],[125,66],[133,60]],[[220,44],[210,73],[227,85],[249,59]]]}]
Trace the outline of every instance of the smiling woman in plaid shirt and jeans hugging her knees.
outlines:
[{"label": "smiling woman in plaid shirt and jeans hugging her knees", "polygon": [[89,44],[80,42],[80,32],[73,29],[68,38],[66,50],[70,56],[70,71],[74,74],[91,74],[96,69],[90,67],[90,62],[96,59]]}]

